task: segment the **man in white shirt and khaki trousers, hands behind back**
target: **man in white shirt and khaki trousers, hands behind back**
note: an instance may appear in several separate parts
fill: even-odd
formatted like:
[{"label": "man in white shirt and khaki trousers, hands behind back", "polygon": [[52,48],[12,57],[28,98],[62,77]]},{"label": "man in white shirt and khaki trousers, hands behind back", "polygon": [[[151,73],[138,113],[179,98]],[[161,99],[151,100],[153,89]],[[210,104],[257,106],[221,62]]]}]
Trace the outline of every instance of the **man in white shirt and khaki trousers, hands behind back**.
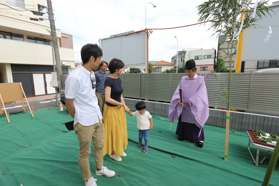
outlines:
[{"label": "man in white shirt and khaki trousers, hands behind back", "polygon": [[74,118],[74,131],[80,146],[78,164],[85,186],[97,186],[90,172],[91,139],[94,144],[95,174],[113,177],[115,172],[103,166],[104,123],[95,95],[96,81],[92,69],[97,69],[103,55],[97,44],[81,49],[82,65],[73,70],[65,81],[66,107]]}]

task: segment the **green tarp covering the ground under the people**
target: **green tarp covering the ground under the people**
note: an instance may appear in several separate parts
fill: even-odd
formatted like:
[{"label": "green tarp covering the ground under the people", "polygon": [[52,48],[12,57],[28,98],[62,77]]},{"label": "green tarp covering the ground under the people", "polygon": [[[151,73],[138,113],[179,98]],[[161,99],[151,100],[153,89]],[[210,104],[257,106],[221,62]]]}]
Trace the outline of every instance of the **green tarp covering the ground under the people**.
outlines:
[{"label": "green tarp covering the ground under the people", "polygon": [[[11,114],[10,124],[5,115],[0,117],[0,173],[10,170],[5,175],[0,174],[0,185],[84,185],[78,166],[77,136],[61,125],[72,120],[70,115],[63,115],[59,107],[34,114],[35,118],[30,113]],[[153,116],[154,129],[149,133],[149,145],[171,153],[149,148],[144,154],[137,144],[128,141],[127,157],[122,157],[122,162],[104,156],[104,166],[124,176],[106,178],[95,175],[92,143],[89,161],[98,186],[261,185],[271,153],[265,164],[255,167],[247,150],[245,133],[230,134],[229,161],[225,162],[221,159],[224,156],[223,128],[206,125],[204,147],[197,148],[195,143],[177,140],[177,123],[169,130],[170,122],[160,119],[166,117]],[[128,114],[126,117],[128,138],[138,141],[136,118]],[[251,149],[255,153],[256,148]],[[277,164],[271,185],[278,185],[278,172]]]}]

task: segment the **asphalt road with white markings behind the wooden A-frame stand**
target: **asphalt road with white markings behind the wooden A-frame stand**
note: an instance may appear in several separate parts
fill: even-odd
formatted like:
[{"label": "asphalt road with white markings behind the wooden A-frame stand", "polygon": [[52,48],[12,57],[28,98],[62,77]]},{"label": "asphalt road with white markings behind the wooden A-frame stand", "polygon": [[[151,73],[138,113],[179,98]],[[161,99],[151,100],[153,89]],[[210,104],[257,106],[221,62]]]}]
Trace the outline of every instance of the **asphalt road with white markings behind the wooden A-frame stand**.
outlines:
[{"label": "asphalt road with white markings behind the wooden A-frame stand", "polygon": [[[36,111],[36,110],[42,110],[45,108],[51,108],[51,107],[55,107],[55,99],[52,100],[41,100],[41,101],[34,101],[34,102],[28,102],[30,105],[30,108]],[[60,99],[58,99],[58,101],[60,101]],[[29,108],[27,103],[24,104],[25,105],[25,112],[29,112]],[[65,105],[64,105],[65,107]],[[21,112],[23,110],[22,108],[22,103],[19,104],[6,104],[5,108],[7,110],[7,112],[9,113],[18,113]],[[3,114],[5,114],[4,108],[2,108]]]}]

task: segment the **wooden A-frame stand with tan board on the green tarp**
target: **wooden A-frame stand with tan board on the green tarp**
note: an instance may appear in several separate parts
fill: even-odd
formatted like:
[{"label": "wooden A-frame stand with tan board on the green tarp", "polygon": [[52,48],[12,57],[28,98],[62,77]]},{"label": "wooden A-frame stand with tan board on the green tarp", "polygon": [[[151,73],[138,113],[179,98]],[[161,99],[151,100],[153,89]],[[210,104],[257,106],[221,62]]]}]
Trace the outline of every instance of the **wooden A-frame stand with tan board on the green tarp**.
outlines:
[{"label": "wooden A-frame stand with tan board on the green tarp", "polygon": [[0,114],[3,114],[2,112],[2,106],[3,104],[5,114],[7,116],[8,122],[10,123],[10,116],[9,113],[7,113],[6,108],[4,103],[6,102],[11,102],[11,101],[22,101],[22,107],[25,112],[25,107],[24,107],[24,100],[23,100],[23,95],[24,98],[28,104],[29,110],[31,112],[32,117],[34,117],[34,114],[32,113],[32,110],[29,106],[28,100],[26,98],[26,95],[24,93],[24,90],[22,88],[21,83],[0,83]]}]

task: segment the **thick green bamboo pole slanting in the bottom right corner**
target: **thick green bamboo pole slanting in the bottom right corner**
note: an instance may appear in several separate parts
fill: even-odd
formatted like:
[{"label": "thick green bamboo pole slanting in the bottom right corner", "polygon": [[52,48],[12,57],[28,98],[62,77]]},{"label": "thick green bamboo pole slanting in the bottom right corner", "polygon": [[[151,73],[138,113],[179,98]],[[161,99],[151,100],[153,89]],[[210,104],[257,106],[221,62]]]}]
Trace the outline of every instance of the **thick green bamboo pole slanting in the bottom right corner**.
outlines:
[{"label": "thick green bamboo pole slanting in the bottom right corner", "polygon": [[264,179],[263,179],[262,186],[268,186],[269,181],[271,179],[274,167],[276,165],[276,162],[277,162],[277,159],[278,159],[278,156],[279,156],[279,145],[278,145],[278,143],[276,144],[275,149],[272,153],[270,162],[268,164],[268,169],[266,170],[266,173],[265,173],[265,176],[264,176]]}]

